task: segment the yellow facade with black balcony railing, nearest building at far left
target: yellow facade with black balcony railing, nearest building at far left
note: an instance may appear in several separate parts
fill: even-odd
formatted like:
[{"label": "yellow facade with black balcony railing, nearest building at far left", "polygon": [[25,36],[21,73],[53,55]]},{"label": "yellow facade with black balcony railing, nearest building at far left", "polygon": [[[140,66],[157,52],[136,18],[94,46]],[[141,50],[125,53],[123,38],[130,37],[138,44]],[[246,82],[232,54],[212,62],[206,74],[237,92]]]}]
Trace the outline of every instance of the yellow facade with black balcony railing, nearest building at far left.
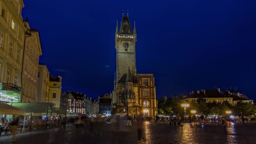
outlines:
[{"label": "yellow facade with black balcony railing, nearest building at far left", "polygon": [[0,101],[20,102],[26,27],[23,0],[0,1]]}]

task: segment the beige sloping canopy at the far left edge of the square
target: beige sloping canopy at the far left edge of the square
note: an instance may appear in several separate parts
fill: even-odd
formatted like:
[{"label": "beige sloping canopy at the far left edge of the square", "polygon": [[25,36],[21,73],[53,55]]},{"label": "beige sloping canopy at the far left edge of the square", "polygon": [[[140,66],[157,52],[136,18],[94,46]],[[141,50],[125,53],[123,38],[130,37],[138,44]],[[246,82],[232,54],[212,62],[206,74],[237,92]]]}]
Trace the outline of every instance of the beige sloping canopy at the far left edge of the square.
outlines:
[{"label": "beige sloping canopy at the far left edge of the square", "polygon": [[25,111],[0,102],[0,115],[24,115]]}]

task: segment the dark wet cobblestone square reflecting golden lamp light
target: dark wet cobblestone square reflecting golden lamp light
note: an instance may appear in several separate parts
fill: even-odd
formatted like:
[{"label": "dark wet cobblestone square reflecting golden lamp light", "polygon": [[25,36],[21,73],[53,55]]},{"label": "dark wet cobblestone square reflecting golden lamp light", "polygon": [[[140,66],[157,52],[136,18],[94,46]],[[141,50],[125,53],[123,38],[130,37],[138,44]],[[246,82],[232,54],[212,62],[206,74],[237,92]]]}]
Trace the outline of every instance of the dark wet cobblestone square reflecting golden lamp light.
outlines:
[{"label": "dark wet cobblestone square reflecting golden lamp light", "polygon": [[[138,141],[138,131],[141,141]],[[0,136],[0,144],[256,144],[256,125],[189,125],[170,126],[166,122],[133,122],[131,127],[117,125],[85,125],[55,128],[17,134],[17,141],[10,142],[12,135]]]}]

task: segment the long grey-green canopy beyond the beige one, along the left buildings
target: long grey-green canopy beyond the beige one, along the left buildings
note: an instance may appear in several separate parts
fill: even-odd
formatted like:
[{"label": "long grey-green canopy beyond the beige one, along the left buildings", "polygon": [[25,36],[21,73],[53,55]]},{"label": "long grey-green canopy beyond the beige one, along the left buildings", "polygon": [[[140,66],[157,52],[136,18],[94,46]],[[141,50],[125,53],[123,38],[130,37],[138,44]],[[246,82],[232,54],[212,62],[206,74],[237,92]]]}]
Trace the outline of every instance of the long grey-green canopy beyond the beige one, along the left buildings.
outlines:
[{"label": "long grey-green canopy beyond the beige one, along the left buildings", "polygon": [[35,116],[46,115],[48,108],[48,115],[52,111],[54,111],[54,107],[52,103],[43,103],[43,102],[9,102],[8,105],[12,105],[16,108],[19,108],[23,111],[26,111],[26,115],[30,115],[33,112]]}]

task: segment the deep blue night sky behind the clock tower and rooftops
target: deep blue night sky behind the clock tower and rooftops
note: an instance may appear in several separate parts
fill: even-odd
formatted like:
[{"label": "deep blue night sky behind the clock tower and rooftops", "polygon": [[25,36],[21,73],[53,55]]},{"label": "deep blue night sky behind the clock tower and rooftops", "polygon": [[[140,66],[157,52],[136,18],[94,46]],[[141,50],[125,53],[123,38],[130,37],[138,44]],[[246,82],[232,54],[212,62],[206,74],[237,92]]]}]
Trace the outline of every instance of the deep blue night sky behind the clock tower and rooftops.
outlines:
[{"label": "deep blue night sky behind the clock tower and rooftops", "polygon": [[[115,26],[136,21],[138,73],[154,73],[157,97],[237,87],[256,98],[256,0],[23,0],[62,91],[96,98],[113,89]],[[120,26],[120,23],[119,23]]]}]

